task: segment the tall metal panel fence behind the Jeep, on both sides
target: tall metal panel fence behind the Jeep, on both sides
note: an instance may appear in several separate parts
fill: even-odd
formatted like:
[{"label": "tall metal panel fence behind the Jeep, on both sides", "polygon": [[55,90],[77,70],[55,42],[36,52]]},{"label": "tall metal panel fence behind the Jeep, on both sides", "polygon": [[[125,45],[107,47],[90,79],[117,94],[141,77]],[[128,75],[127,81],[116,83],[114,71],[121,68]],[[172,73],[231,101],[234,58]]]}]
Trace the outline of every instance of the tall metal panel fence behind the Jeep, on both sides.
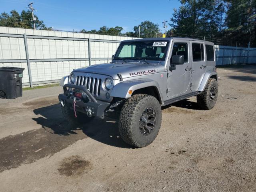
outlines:
[{"label": "tall metal panel fence behind the Jeep, on both sides", "polygon": [[[0,27],[0,67],[22,67],[23,85],[59,82],[74,68],[110,62],[130,37]],[[216,65],[256,63],[256,48],[215,46]]]}]

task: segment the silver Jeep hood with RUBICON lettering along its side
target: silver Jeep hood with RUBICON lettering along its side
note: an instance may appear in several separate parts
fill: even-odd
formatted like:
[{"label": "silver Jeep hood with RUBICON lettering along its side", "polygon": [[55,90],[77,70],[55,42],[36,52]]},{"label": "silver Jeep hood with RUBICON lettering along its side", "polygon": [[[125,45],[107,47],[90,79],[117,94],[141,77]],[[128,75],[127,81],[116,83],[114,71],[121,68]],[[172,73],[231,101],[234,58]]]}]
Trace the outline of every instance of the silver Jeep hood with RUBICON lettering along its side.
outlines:
[{"label": "silver Jeep hood with RUBICON lettering along its side", "polygon": [[128,63],[106,63],[96,64],[88,67],[83,67],[74,70],[74,72],[86,72],[111,76],[114,80],[119,79],[118,73],[122,78],[133,76],[141,76],[164,70],[164,66],[160,64],[146,64],[142,62],[128,62]]}]

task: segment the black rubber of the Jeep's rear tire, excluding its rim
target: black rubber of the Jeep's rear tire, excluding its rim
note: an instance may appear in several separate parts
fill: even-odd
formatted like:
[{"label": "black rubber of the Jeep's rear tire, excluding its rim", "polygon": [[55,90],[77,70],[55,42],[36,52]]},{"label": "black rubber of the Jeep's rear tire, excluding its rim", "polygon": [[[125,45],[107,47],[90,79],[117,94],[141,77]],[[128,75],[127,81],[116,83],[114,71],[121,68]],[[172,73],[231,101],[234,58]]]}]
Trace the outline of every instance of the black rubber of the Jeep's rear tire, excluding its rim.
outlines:
[{"label": "black rubber of the Jeep's rear tire, excluding its rim", "polygon": [[[212,103],[210,102],[210,100],[207,97],[210,95],[210,90],[211,90],[211,87],[213,84],[216,84],[217,92],[216,92],[216,98],[215,98],[214,104],[212,105]],[[215,106],[217,98],[218,98],[217,80],[214,78],[210,78],[208,80],[208,83],[207,83],[204,91],[196,96],[196,101],[197,101],[198,105],[200,106],[200,108],[202,108],[203,110],[210,110]]]}]

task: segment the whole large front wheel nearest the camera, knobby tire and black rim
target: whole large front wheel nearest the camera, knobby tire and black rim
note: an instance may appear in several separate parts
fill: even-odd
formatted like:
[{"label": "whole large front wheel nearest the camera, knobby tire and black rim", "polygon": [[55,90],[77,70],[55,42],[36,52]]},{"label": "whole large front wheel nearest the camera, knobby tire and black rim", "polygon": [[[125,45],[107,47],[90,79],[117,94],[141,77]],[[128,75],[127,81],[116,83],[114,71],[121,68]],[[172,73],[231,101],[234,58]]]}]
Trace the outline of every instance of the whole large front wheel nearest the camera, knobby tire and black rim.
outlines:
[{"label": "whole large front wheel nearest the camera, knobby tire and black rim", "polygon": [[136,94],[122,106],[119,133],[128,144],[139,148],[152,143],[161,126],[162,111],[154,96]]}]

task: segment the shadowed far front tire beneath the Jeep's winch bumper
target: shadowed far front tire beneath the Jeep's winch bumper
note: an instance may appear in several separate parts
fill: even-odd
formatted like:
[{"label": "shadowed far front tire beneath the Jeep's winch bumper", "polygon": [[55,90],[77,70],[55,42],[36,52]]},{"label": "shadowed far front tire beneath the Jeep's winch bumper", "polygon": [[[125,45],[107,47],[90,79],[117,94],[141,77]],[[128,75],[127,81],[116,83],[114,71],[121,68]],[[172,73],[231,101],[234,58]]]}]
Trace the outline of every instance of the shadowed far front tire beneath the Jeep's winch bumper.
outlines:
[{"label": "shadowed far front tire beneath the Jeep's winch bumper", "polygon": [[64,107],[61,107],[61,111],[63,116],[71,123],[73,124],[84,124],[87,122],[90,122],[94,119],[94,116],[88,117],[86,114],[76,112],[76,116],[74,113],[74,110],[70,109],[71,105],[66,104]]}]

